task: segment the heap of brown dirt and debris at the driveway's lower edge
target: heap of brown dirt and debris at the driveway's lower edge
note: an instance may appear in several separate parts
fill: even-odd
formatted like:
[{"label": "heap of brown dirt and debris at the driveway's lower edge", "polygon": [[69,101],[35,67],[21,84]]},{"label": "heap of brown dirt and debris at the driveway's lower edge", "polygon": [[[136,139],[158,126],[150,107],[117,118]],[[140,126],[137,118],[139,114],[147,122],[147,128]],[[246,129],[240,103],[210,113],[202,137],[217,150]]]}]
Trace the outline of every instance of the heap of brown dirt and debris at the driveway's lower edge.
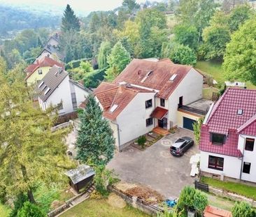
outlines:
[{"label": "heap of brown dirt and debris at the driveway's lower edge", "polygon": [[125,191],[129,196],[135,196],[150,204],[155,204],[164,201],[163,195],[159,194],[156,190],[152,190],[146,186],[136,186],[129,188]]}]

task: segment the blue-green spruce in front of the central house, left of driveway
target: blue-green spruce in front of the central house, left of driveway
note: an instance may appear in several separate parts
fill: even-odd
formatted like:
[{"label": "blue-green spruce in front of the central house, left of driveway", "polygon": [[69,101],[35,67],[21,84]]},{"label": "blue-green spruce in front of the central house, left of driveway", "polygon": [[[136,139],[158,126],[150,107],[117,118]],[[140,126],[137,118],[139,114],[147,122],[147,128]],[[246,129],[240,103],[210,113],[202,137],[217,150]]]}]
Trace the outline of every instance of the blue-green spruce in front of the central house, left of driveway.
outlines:
[{"label": "blue-green spruce in front of the central house, left of driveway", "polygon": [[80,128],[76,140],[77,158],[83,163],[106,165],[115,149],[113,131],[93,96],[88,96],[84,110],[79,113]]}]

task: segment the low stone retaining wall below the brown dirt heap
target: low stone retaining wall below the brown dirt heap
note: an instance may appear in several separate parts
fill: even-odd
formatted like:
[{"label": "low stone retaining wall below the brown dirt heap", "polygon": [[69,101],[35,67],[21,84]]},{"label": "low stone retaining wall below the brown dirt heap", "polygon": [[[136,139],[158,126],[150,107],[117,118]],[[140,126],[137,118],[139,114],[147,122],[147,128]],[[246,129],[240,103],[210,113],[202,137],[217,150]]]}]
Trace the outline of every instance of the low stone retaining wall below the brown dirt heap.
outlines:
[{"label": "low stone retaining wall below the brown dirt heap", "polygon": [[131,204],[132,207],[136,209],[140,209],[141,211],[145,212],[146,214],[157,216],[157,214],[164,212],[164,209],[157,207],[155,205],[149,204],[148,202],[145,202],[144,200],[141,200],[138,197],[131,197],[127,195],[122,190],[116,188],[115,186],[108,186],[108,190],[112,191],[116,195],[122,197],[125,202],[128,204]]}]

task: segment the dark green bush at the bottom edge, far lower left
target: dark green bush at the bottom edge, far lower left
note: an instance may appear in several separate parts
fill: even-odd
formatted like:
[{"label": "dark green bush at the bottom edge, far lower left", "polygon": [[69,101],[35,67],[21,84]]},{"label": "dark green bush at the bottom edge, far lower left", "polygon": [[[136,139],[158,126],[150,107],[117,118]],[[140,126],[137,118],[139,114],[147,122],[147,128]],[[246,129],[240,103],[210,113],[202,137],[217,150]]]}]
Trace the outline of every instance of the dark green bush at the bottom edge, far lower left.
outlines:
[{"label": "dark green bush at the bottom edge, far lower left", "polygon": [[35,204],[31,204],[31,202],[24,202],[24,205],[20,211],[17,213],[17,217],[45,217],[46,215],[37,207]]}]

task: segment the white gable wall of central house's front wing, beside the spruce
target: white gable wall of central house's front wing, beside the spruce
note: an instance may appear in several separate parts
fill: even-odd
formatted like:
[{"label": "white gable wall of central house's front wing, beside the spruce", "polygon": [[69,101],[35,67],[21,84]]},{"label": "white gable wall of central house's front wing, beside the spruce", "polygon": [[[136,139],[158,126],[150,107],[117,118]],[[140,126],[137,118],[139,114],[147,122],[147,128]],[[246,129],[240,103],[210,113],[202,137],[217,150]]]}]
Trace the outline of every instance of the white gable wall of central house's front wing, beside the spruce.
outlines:
[{"label": "white gable wall of central house's front wing, beside the spruce", "polygon": [[[120,128],[120,145],[154,128],[154,123],[151,126],[145,126],[145,119],[150,118],[150,114],[155,110],[154,96],[155,93],[138,93],[118,115],[116,121]],[[145,101],[150,99],[152,99],[152,107],[145,109]]]}]

